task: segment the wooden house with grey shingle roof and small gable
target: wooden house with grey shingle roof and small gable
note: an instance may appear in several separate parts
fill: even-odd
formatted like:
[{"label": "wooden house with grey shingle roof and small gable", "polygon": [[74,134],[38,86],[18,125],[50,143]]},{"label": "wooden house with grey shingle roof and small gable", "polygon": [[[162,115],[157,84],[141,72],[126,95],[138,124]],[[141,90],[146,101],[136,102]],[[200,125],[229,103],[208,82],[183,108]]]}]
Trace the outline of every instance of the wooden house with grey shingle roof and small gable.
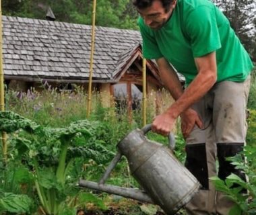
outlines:
[{"label": "wooden house with grey shingle roof and small gable", "polygon": [[[9,89],[88,88],[92,26],[3,16],[3,71]],[[141,93],[141,36],[135,30],[96,27],[92,87],[109,95]],[[147,60],[147,91],[162,87]],[[139,96],[139,95],[136,95]]]}]

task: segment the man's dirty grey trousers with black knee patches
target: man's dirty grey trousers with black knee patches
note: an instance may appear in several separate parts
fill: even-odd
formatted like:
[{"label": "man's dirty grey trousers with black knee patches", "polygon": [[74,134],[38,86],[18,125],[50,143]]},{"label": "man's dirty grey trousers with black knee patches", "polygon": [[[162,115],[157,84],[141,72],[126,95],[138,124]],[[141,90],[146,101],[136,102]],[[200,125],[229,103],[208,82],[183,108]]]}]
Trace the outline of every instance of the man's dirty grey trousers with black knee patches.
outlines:
[{"label": "man's dirty grey trousers with black knee patches", "polygon": [[[246,110],[250,77],[243,83],[222,81],[197,103],[193,109],[203,120],[203,129],[197,126],[186,139],[185,166],[203,185],[191,202],[187,214],[228,215],[234,205],[224,194],[216,191],[209,177],[218,175],[225,179],[230,173],[245,177],[226,161],[243,150],[247,134]],[[219,169],[216,170],[216,159]]]}]

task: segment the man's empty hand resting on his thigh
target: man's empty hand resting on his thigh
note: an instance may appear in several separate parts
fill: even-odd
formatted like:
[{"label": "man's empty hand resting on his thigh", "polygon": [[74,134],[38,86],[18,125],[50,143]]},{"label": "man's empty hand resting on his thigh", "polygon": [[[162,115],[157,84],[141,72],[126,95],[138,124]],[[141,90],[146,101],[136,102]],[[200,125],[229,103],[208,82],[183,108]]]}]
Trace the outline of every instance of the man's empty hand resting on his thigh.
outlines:
[{"label": "man's empty hand resting on his thigh", "polygon": [[195,124],[197,124],[199,128],[203,128],[203,122],[195,110],[189,108],[181,114],[181,132],[183,133],[184,138],[189,136]]}]

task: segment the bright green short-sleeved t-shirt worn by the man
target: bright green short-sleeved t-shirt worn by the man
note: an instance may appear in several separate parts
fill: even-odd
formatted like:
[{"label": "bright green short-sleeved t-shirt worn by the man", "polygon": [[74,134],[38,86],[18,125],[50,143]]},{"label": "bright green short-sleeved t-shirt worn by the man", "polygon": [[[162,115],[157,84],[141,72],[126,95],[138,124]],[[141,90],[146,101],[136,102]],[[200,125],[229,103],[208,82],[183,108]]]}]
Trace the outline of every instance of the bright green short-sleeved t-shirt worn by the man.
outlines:
[{"label": "bright green short-sleeved t-shirt worn by the man", "polygon": [[249,54],[228,19],[209,0],[178,0],[172,16],[159,30],[139,17],[143,56],[164,57],[183,74],[187,84],[197,75],[194,58],[216,51],[217,81],[244,81],[253,69]]}]

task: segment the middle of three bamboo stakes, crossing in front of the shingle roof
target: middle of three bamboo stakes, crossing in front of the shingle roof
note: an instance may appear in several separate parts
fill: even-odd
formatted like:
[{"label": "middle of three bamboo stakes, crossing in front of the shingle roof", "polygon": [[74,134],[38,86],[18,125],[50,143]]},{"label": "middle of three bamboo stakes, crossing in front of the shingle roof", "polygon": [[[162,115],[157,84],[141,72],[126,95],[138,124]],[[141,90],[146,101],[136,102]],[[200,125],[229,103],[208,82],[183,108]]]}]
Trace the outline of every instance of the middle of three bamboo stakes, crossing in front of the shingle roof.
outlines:
[{"label": "middle of three bamboo stakes, crossing in front of the shingle roof", "polygon": [[92,9],[92,46],[90,56],[90,76],[88,85],[88,105],[87,105],[87,118],[90,116],[92,106],[92,71],[93,71],[93,60],[94,60],[94,42],[95,42],[95,19],[96,19],[96,0],[94,0]]}]

